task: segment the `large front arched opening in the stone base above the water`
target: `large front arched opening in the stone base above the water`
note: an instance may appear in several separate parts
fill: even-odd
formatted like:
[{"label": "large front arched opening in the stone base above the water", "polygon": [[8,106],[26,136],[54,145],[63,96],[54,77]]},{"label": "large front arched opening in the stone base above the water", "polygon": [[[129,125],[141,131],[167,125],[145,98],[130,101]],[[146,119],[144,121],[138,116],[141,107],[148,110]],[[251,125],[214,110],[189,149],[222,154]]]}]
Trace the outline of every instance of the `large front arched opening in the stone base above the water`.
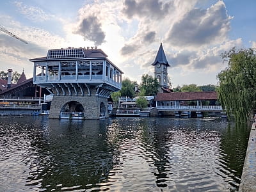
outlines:
[{"label": "large front arched opening in the stone base above the water", "polygon": [[70,101],[63,105],[60,111],[60,118],[83,119],[84,107],[77,101]]}]

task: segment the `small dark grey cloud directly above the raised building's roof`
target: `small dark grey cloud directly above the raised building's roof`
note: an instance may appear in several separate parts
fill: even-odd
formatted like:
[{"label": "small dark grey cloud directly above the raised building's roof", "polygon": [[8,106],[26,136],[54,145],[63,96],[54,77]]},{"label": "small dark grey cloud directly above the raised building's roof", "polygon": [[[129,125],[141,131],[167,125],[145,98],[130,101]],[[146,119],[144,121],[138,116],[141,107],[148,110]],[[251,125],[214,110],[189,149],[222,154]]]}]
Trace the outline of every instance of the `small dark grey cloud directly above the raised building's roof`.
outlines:
[{"label": "small dark grey cloud directly above the raised building's roof", "polygon": [[84,40],[96,42],[97,45],[102,44],[106,36],[102,31],[102,24],[95,15],[84,17],[74,33],[83,36]]}]

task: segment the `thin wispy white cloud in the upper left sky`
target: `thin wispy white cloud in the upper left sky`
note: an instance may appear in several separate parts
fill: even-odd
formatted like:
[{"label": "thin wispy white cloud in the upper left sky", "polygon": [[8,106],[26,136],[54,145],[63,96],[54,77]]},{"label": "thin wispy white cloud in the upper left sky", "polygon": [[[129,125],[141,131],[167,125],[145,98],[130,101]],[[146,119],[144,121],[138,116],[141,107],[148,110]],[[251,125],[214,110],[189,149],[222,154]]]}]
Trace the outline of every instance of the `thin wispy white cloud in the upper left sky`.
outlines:
[{"label": "thin wispy white cloud in the upper left sky", "polygon": [[33,20],[35,22],[41,22],[45,20],[51,20],[55,18],[54,15],[49,15],[44,12],[44,10],[35,7],[35,6],[26,6],[20,1],[15,1],[13,4],[19,8],[19,12],[25,15],[25,17],[29,20]]}]

